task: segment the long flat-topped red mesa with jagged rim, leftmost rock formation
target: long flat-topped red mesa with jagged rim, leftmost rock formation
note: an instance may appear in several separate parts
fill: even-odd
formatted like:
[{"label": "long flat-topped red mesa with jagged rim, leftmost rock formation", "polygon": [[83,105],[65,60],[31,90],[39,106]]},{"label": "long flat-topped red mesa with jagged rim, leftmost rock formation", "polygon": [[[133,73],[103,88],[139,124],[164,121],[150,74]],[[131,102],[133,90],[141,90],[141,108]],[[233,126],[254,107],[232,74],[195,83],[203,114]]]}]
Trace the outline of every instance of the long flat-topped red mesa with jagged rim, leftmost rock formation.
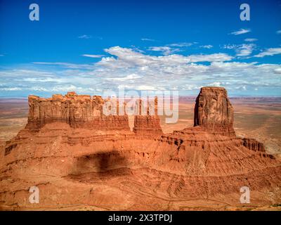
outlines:
[{"label": "long flat-topped red mesa with jagged rim, leftmost rock formation", "polygon": [[103,115],[103,105],[107,101],[111,100],[103,100],[101,96],[77,95],[73,91],[65,96],[54,94],[52,98],[29,96],[26,128],[37,130],[47,123],[66,122],[74,128],[129,131],[127,115]]}]

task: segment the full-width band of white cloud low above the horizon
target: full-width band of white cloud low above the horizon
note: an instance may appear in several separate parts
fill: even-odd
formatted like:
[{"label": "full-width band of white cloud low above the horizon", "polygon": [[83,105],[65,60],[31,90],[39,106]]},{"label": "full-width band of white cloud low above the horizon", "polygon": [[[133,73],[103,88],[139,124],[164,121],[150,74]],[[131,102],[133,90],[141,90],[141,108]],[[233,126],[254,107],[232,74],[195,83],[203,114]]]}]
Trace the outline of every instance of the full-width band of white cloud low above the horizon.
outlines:
[{"label": "full-width band of white cloud low above the horizon", "polygon": [[281,65],[234,62],[226,53],[152,56],[120,46],[105,52],[110,56],[89,65],[41,62],[29,69],[1,70],[1,94],[8,90],[102,94],[119,86],[140,91],[177,89],[180,94],[197,94],[201,86],[225,86],[230,94],[251,94],[254,89],[281,87]]}]

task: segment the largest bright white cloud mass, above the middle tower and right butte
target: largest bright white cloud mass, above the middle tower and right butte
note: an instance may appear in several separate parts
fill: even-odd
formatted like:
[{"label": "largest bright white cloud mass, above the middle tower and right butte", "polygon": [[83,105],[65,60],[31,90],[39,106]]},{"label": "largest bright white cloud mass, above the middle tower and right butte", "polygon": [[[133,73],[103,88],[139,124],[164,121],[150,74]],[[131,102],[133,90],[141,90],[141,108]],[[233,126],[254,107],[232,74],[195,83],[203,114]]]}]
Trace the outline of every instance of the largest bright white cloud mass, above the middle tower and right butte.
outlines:
[{"label": "largest bright white cloud mass, above the middle tower and right butte", "polygon": [[[114,74],[117,78],[114,79],[115,84],[122,85],[126,81],[128,89],[193,91],[200,86],[212,84],[226,86],[230,90],[235,90],[238,86],[240,91],[247,91],[249,90],[247,86],[276,85],[275,70],[280,68],[280,65],[226,63],[224,61],[231,60],[233,57],[223,53],[150,56],[119,46],[106,49],[106,51],[117,58],[108,57],[106,60],[103,58],[97,63],[101,68],[98,71],[100,76],[112,77]],[[209,61],[211,65],[196,64],[203,61]],[[137,77],[130,76],[132,72]],[[265,74],[267,77],[263,77]],[[255,83],[252,82],[253,79]]]}]

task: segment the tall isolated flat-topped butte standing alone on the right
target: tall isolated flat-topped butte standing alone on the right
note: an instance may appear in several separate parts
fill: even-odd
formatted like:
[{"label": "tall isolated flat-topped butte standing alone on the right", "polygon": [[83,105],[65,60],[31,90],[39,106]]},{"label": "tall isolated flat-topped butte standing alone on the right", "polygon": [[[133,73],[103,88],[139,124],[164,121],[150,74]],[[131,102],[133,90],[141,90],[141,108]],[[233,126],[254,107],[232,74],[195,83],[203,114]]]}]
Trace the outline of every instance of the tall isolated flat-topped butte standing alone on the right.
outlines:
[{"label": "tall isolated flat-topped butte standing alone on the right", "polygon": [[202,87],[196,98],[194,127],[224,136],[235,136],[233,129],[233,106],[226,89]]}]

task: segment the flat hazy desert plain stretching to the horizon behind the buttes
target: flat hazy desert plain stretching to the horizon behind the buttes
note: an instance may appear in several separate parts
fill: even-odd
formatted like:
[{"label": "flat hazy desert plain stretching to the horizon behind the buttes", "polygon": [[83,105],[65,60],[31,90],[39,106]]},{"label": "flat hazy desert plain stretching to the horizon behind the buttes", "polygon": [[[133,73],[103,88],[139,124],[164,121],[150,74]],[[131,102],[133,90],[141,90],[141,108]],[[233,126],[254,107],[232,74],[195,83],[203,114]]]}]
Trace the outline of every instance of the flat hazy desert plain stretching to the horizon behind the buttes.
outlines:
[{"label": "flat hazy desert plain stretching to the horizon behind the buttes", "polygon": [[[234,108],[237,136],[261,141],[266,151],[281,156],[281,98],[230,98]],[[164,133],[193,126],[195,97],[179,98],[176,124],[161,125]],[[25,98],[0,98],[0,143],[13,138],[27,123],[28,103]]]}]

